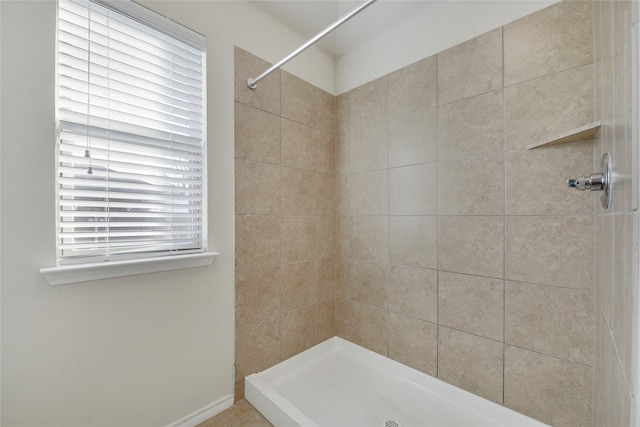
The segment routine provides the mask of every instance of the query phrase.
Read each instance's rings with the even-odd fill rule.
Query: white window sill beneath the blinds
[[[88,282],[90,280],[132,276],[134,274],[203,267],[213,264],[214,259],[218,255],[220,255],[218,252],[205,252],[201,254],[176,255],[142,260],[135,259],[95,264],[63,265],[41,268],[40,274],[47,279],[50,285],[66,285],[69,283]]]

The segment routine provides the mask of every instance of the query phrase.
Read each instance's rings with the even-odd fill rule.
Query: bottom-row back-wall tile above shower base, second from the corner
[[[389,314],[386,310],[352,302],[351,341],[383,356],[389,355]]]

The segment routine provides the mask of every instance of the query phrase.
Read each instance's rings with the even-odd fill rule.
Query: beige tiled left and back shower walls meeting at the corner
[[[558,426],[591,423],[590,2],[337,97],[236,49],[236,395],[333,335]],[[568,260],[571,260],[570,262]]]

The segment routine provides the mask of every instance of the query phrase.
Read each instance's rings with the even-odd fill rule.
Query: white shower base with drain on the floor
[[[546,426],[338,337],[249,375],[245,397],[276,427]]]

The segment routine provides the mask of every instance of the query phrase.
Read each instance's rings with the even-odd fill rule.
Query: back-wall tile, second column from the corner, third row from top
[[[351,175],[351,215],[389,214],[389,172],[385,170]]]

